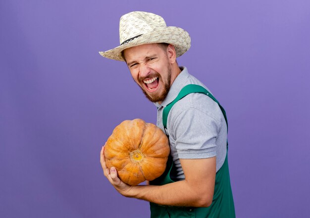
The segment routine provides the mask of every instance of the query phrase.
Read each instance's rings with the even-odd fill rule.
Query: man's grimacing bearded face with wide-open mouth
[[[146,44],[126,49],[124,57],[135,82],[151,102],[162,102],[171,86],[171,64],[164,46]]]

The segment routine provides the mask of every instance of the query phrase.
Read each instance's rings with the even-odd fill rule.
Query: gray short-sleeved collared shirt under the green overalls
[[[184,86],[197,84],[207,89],[204,84],[188,73],[186,67],[180,67],[180,69],[182,72],[174,80],[167,97],[161,104],[155,103],[157,126],[163,131],[162,110],[177,97]],[[207,95],[192,93],[175,103],[168,114],[165,131],[169,137],[170,155],[176,167],[172,179],[185,178],[179,159],[203,159],[216,156],[216,171],[224,163],[227,152],[226,121],[218,104]]]

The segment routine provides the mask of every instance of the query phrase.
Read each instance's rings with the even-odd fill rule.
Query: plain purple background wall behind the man
[[[308,217],[309,0],[1,0],[0,217],[149,217],[99,163],[117,124],[156,119],[125,64],[98,54],[133,10],[190,33],[178,62],[226,109],[237,217]]]

